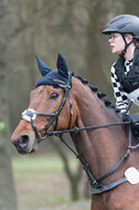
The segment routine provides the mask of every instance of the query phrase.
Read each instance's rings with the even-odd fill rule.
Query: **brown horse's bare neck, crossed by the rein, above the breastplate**
[[[88,87],[82,85],[76,87],[76,91],[78,115],[75,126],[105,125],[119,120]],[[126,151],[122,151],[122,148],[127,148],[121,126],[79,132],[74,144],[96,177],[114,167]]]

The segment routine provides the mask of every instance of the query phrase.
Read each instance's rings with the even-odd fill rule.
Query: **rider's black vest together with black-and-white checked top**
[[[139,106],[139,49],[135,50],[133,60],[119,57],[111,66],[111,84],[116,98],[116,106],[120,113],[128,107],[128,99]]]

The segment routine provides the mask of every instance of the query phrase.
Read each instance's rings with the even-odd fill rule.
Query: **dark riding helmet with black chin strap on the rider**
[[[127,48],[132,43],[131,41],[129,44],[127,44],[125,39],[126,33],[133,35],[133,42],[139,42],[139,18],[131,14],[121,14],[114,18],[103,31],[103,33],[109,35],[113,32],[118,32],[122,35],[126,46],[124,53],[121,54],[125,54]]]

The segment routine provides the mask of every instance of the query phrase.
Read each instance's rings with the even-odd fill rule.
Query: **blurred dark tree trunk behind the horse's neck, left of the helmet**
[[[100,49],[100,24],[101,17],[106,15],[104,6],[106,2],[100,0],[88,0],[86,9],[88,13],[88,21],[86,24],[86,70],[92,83],[97,84],[100,90],[104,90],[107,81],[105,72],[103,71],[101,49]],[[99,15],[101,14],[101,15]]]

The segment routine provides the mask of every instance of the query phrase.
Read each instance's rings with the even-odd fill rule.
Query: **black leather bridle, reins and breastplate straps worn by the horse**
[[[60,108],[55,112],[55,113],[41,113],[41,112],[35,112],[33,109],[26,109],[22,113],[22,118],[24,118],[25,120],[30,122],[31,125],[32,125],[32,128],[35,133],[35,137],[38,139],[38,141],[40,141],[40,139],[42,140],[43,138],[45,138],[46,136],[57,136],[60,137],[60,139],[62,140],[62,143],[64,143],[66,145],[66,147],[68,149],[71,149],[71,151],[76,156],[76,158],[79,159],[84,170],[86,171],[87,176],[88,176],[88,181],[89,181],[89,188],[90,188],[90,192],[92,193],[101,193],[101,192],[105,192],[105,191],[108,191],[108,190],[111,190],[113,188],[124,183],[127,181],[127,178],[122,178],[122,179],[119,179],[113,183],[109,183],[107,186],[104,186],[101,185],[100,182],[106,179],[107,177],[109,177],[110,175],[113,175],[122,164],[124,161],[128,158],[130,151],[132,149],[136,149],[139,147],[139,144],[137,144],[136,146],[132,146],[131,145],[131,128],[130,128],[130,122],[119,122],[119,123],[111,123],[111,124],[106,124],[106,125],[99,125],[99,126],[88,126],[88,127],[83,127],[83,128],[77,128],[77,127],[74,127],[74,128],[71,128],[71,123],[72,123],[72,115],[73,115],[73,104],[72,104],[72,98],[71,98],[71,94],[70,94],[70,91],[71,91],[71,83],[72,81],[72,73],[70,73],[70,76],[68,76],[68,83],[67,85],[65,85],[63,88],[65,91],[64,93],[64,96],[63,96],[63,99],[62,99],[62,103],[60,105]],[[66,103],[66,97],[68,95],[68,98],[70,98],[70,123],[68,123],[68,128],[65,129],[63,128],[62,130],[56,130],[56,127],[57,127],[57,123],[58,123],[58,117],[60,117],[60,114]],[[49,124],[45,126],[45,127],[42,127],[42,128],[38,128],[35,126],[35,123],[34,123],[34,118],[36,115],[41,115],[41,116],[50,116],[52,117],[52,119],[49,122]],[[55,126],[54,126],[54,130],[53,132],[49,132],[47,129],[50,128],[50,126],[54,123],[55,123]],[[103,175],[101,177],[95,179],[89,170],[89,166],[88,164],[84,160],[84,158],[82,157],[82,155],[77,151],[76,151],[64,140],[63,138],[63,134],[65,133],[72,133],[73,134],[73,138],[75,139],[75,135],[78,133],[78,132],[82,132],[82,130],[89,130],[89,129],[99,129],[99,128],[106,128],[106,127],[110,127],[110,126],[119,126],[119,125],[128,125],[129,127],[129,144],[128,144],[128,147],[127,147],[127,151],[126,154],[124,155],[124,157],[119,160],[119,162],[114,166],[108,172],[106,172],[105,175]],[[46,132],[46,135],[44,137],[41,136],[41,133],[40,130],[45,130]],[[95,187],[94,187],[95,186]]]

